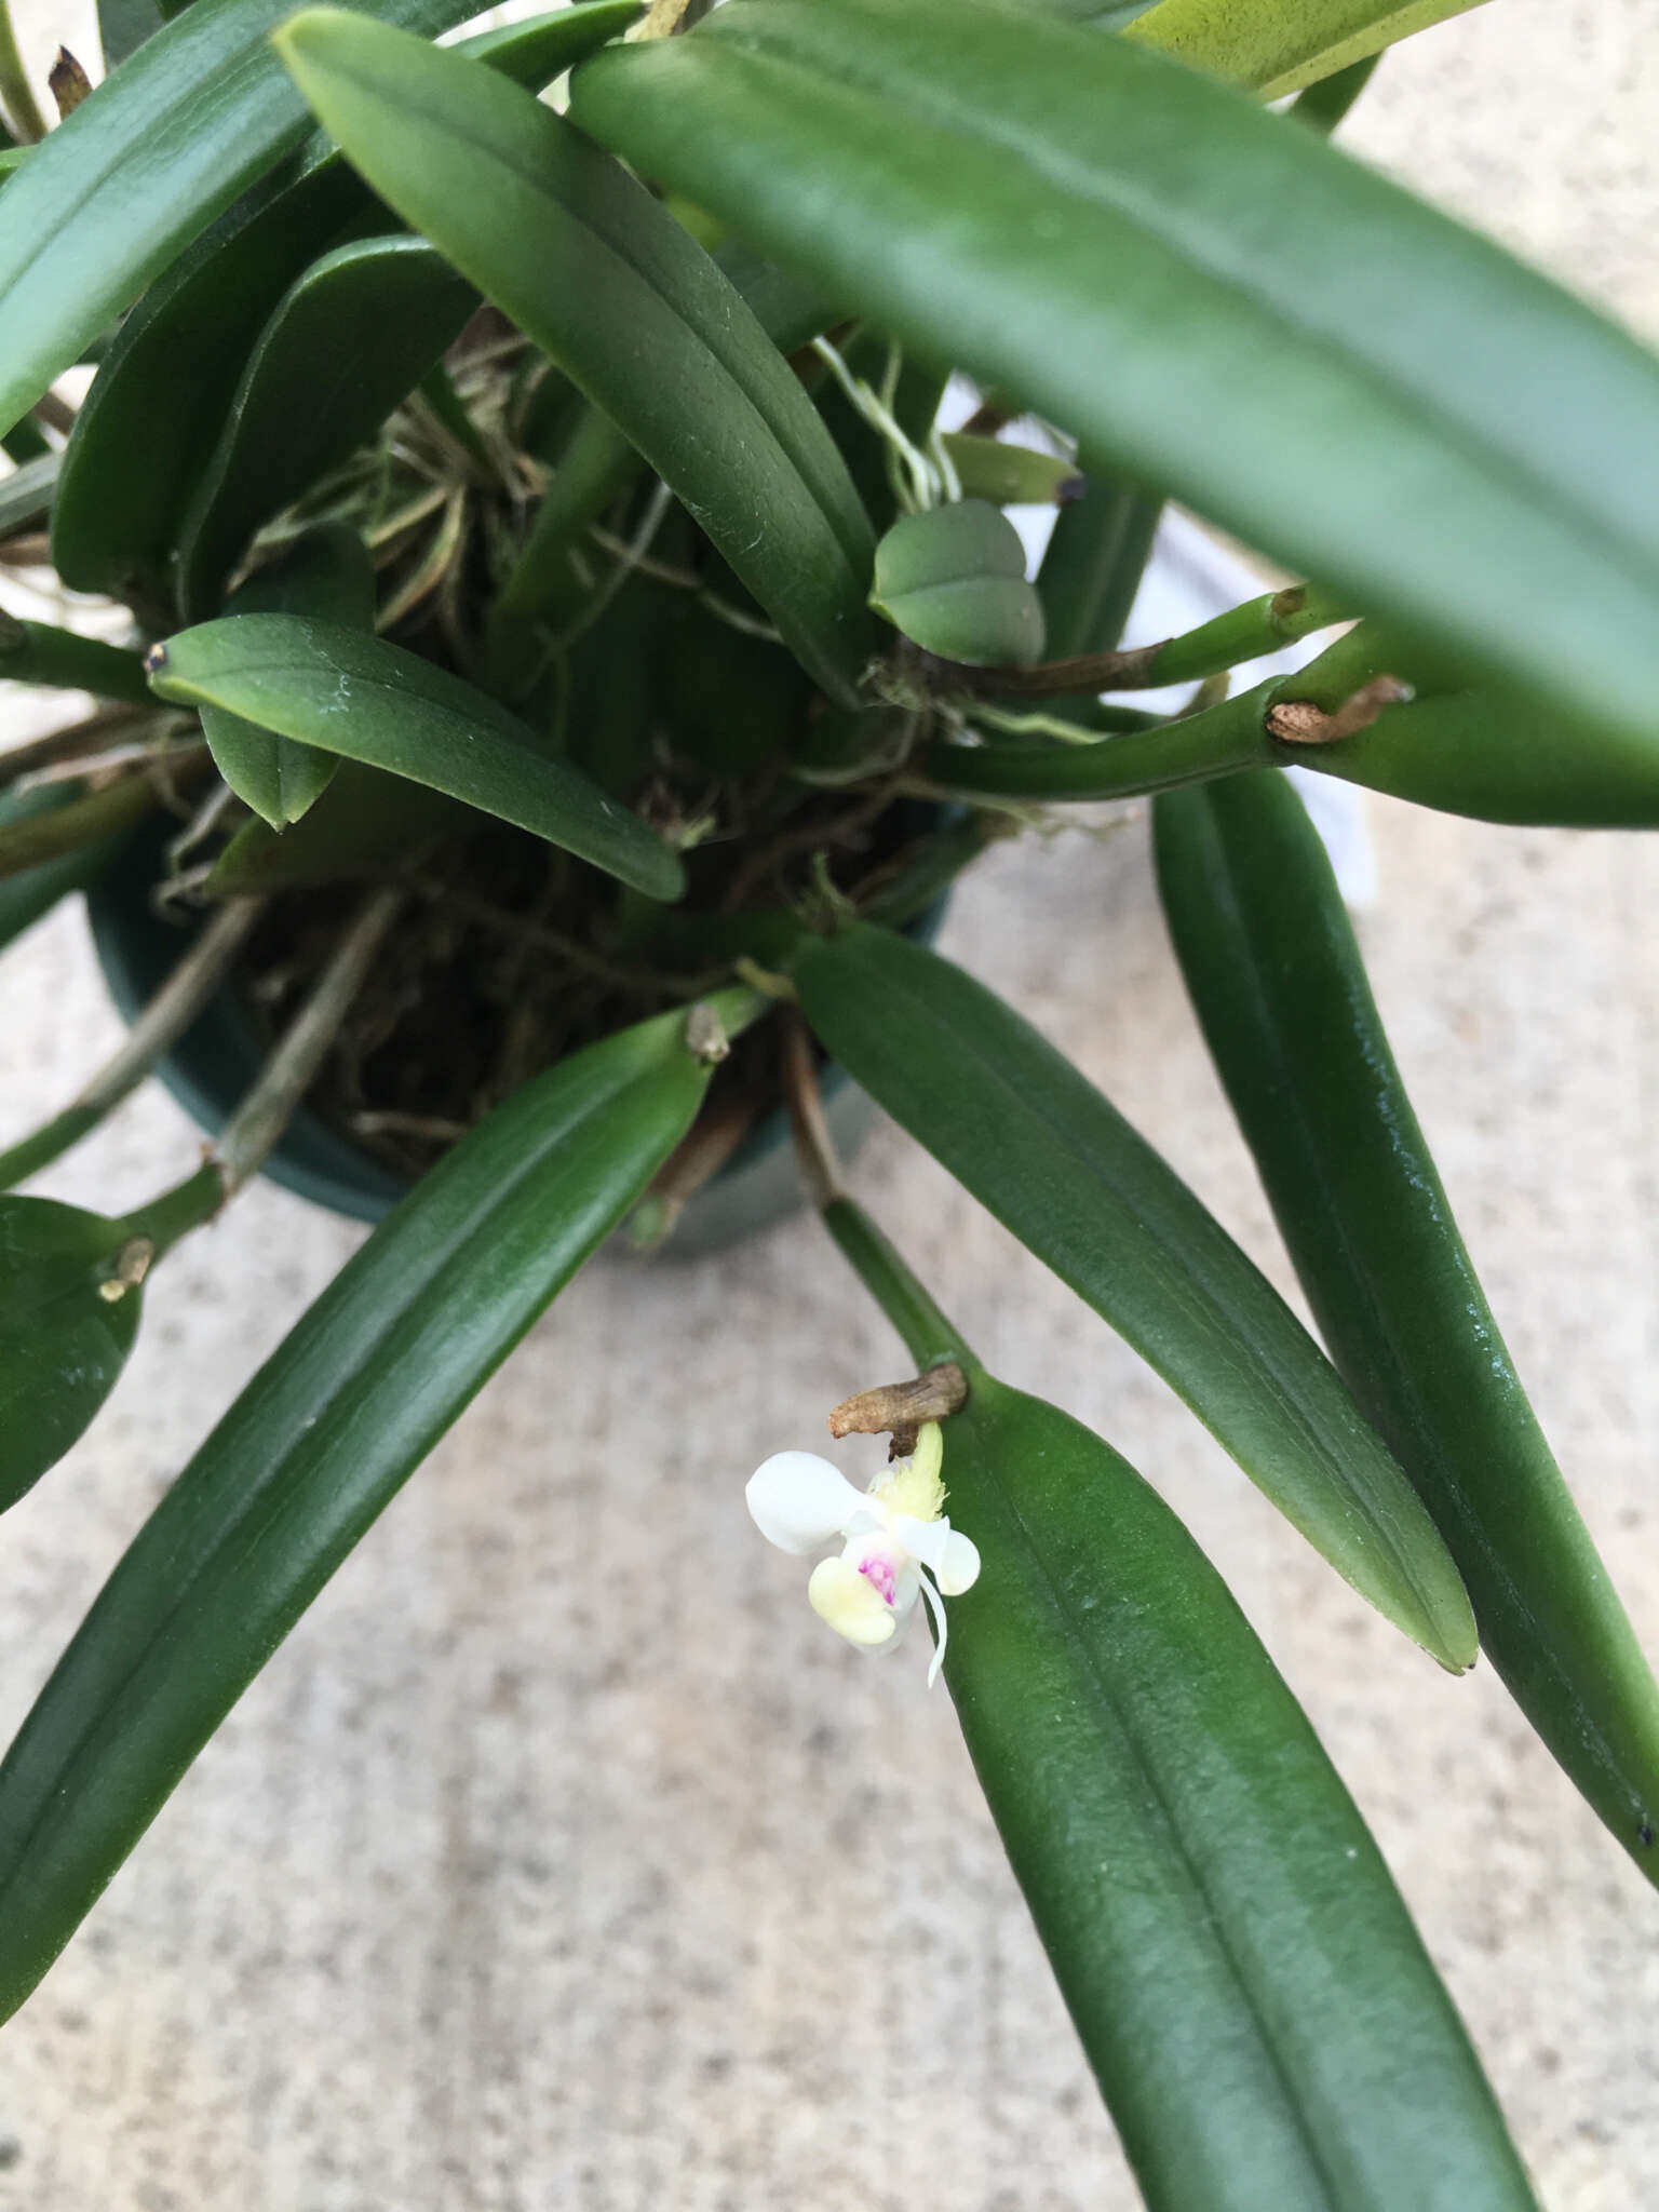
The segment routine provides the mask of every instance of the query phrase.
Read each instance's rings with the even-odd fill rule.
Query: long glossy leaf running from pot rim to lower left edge
[[[622,1221],[706,1077],[684,1015],[661,1015],[526,1084],[230,1407],[0,1765],[0,2017],[341,1559]]]

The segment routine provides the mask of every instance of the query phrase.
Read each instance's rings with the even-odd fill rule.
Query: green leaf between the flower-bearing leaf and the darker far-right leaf
[[[880,929],[814,940],[801,1006],[854,1082],[1086,1298],[1356,1590],[1442,1666],[1458,1571],[1267,1279],[1108,1099],[949,960]]]

